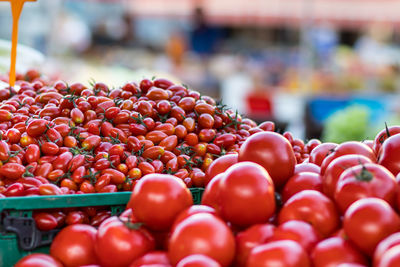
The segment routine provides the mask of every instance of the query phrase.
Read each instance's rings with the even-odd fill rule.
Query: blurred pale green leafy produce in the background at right
[[[373,140],[378,132],[388,126],[400,125],[396,114],[384,121],[370,124],[370,110],[366,106],[352,105],[332,114],[324,124],[322,140],[324,142],[342,143],[345,141]]]

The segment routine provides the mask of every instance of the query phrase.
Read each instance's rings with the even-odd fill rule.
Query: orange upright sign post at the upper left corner
[[[18,22],[22,8],[25,2],[36,2],[36,0],[0,0],[2,2],[10,2],[11,13],[13,17],[13,29],[11,35],[11,63],[9,84],[11,87],[15,85],[15,65],[17,61],[17,44],[18,44]]]

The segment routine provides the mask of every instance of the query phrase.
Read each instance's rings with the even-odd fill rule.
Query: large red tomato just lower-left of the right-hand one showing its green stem
[[[335,204],[315,190],[303,190],[293,195],[283,205],[278,215],[279,224],[290,220],[308,222],[327,237],[339,227],[339,215]]]

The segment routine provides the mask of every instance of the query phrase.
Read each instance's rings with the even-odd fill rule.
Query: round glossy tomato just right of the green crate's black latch
[[[67,226],[54,238],[50,255],[67,267],[97,264],[94,250],[96,234],[96,228],[90,225]]]

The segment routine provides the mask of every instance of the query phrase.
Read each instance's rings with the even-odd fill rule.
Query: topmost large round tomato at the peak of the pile
[[[252,161],[263,166],[276,188],[282,187],[293,175],[296,165],[289,141],[274,132],[260,132],[250,136],[240,148],[239,161]]]

